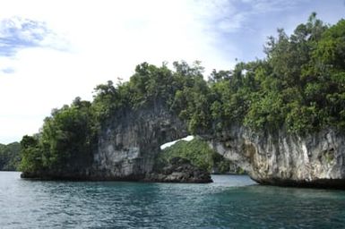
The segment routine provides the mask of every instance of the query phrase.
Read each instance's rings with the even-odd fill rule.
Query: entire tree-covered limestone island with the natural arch
[[[312,13],[264,52],[208,81],[199,62],[143,63],[130,81],[97,86],[92,102],[75,98],[22,138],[22,177],[156,181],[160,145],[193,134],[256,182],[345,188],[345,20]]]

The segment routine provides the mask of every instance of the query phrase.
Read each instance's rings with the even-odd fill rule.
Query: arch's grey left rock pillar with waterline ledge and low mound
[[[47,180],[211,182],[209,173],[184,160],[177,159],[163,170],[153,171],[160,146],[186,135],[185,123],[160,103],[123,109],[103,123],[91,156],[71,158],[64,169],[24,172],[21,176]]]

